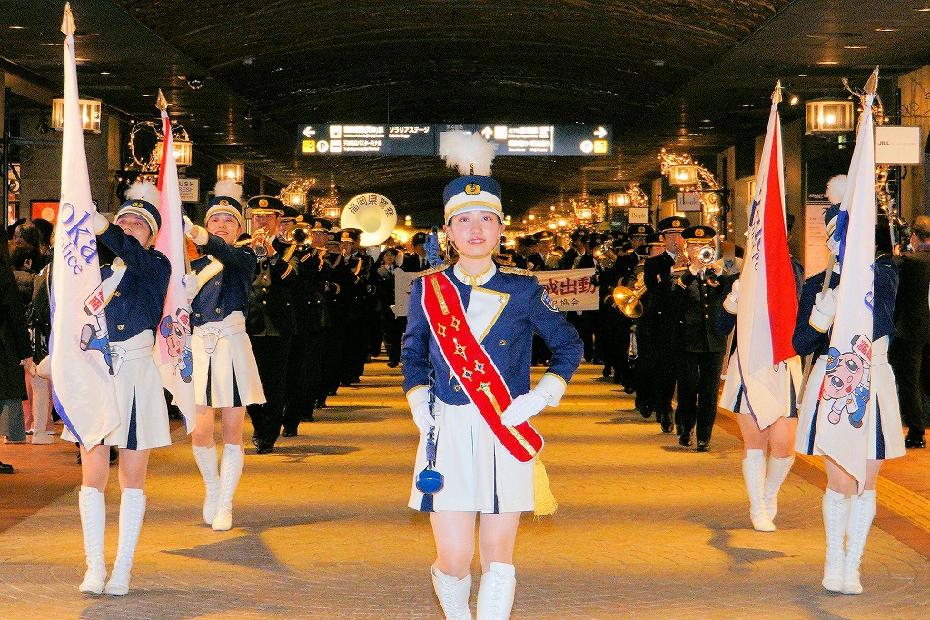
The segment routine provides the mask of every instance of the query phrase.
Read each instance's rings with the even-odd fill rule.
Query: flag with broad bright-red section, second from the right
[[[760,428],[793,406],[800,359],[791,345],[798,300],[785,232],[785,174],[778,102],[772,112],[752,198],[749,238],[739,276],[737,354],[746,402]],[[785,363],[782,363],[785,362]]]

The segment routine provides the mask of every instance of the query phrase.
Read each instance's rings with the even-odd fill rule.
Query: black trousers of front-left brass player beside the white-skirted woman
[[[249,405],[248,417],[255,426],[259,443],[272,446],[281,435],[285,414],[285,388],[287,383],[287,360],[290,354],[290,336],[249,336],[255,362],[259,367],[261,387],[265,391],[265,403]]]

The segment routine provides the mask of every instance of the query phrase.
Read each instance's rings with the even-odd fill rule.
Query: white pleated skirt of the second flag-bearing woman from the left
[[[216,347],[207,353],[206,341],[217,333]],[[265,402],[252,343],[246,333],[246,316],[233,312],[221,321],[193,328],[193,389],[198,405],[246,407]],[[284,371],[284,369],[282,369]]]

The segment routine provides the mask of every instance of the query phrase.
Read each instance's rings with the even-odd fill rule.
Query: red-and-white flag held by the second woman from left
[[[174,136],[167,104],[158,91],[162,111],[161,163],[158,168],[158,190],[161,201],[158,214],[162,225],[155,237],[155,249],[165,254],[171,263],[171,279],[165,298],[165,310],[155,335],[153,357],[162,377],[162,384],[171,393],[174,404],[184,416],[187,432],[193,431],[196,404],[193,396],[193,357],[191,355],[191,303],[187,299],[184,277],[187,274],[187,246],[184,242],[184,211],[180,201],[178,165],[174,158]]]

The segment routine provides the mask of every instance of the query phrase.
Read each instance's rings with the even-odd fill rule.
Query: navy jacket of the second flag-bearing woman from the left
[[[248,246],[231,246],[210,235],[205,256],[191,261],[197,276],[197,296],[191,302],[191,327],[221,321],[233,312],[246,312],[258,258]]]

